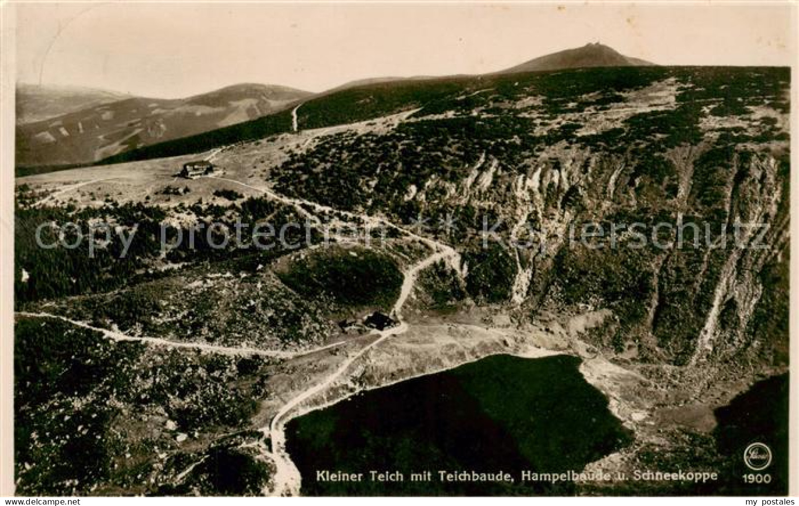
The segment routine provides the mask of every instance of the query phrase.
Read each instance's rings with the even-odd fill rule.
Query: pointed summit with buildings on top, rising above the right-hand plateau
[[[510,69],[498,73],[533,72],[539,70],[580,69],[585,67],[638,67],[650,66],[654,63],[639,58],[624,56],[615,49],[603,44],[586,44],[574,49],[565,49],[557,53],[537,57],[525,61]]]

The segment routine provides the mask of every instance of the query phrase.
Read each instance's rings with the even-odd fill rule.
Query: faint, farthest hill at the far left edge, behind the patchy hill
[[[17,124],[48,120],[88,107],[124,100],[128,95],[80,86],[17,85]]]

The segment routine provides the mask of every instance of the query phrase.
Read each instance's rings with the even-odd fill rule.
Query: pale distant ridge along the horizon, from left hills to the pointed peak
[[[414,87],[426,82],[479,80],[534,71],[652,65],[626,57],[609,46],[593,43],[537,57],[499,72],[471,76],[372,77],[349,81],[322,93],[282,85],[240,83],[182,99],[131,96],[18,125],[17,165],[30,168],[94,164],[154,144],[242,125],[303,104],[310,98],[332,97],[352,90],[384,88],[383,92],[375,93],[390,94],[392,87]],[[341,111],[329,113],[334,117],[341,115]],[[86,125],[92,132],[85,132]]]

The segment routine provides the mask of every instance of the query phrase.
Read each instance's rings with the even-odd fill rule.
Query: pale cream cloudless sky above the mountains
[[[487,73],[602,42],[661,65],[792,65],[787,4],[16,4],[17,81],[177,98]]]

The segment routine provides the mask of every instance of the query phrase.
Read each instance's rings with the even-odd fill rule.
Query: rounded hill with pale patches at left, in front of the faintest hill
[[[241,84],[177,100],[129,97],[17,126],[17,165],[89,164],[165,140],[263,117],[311,93]],[[19,105],[18,105],[19,107]]]

